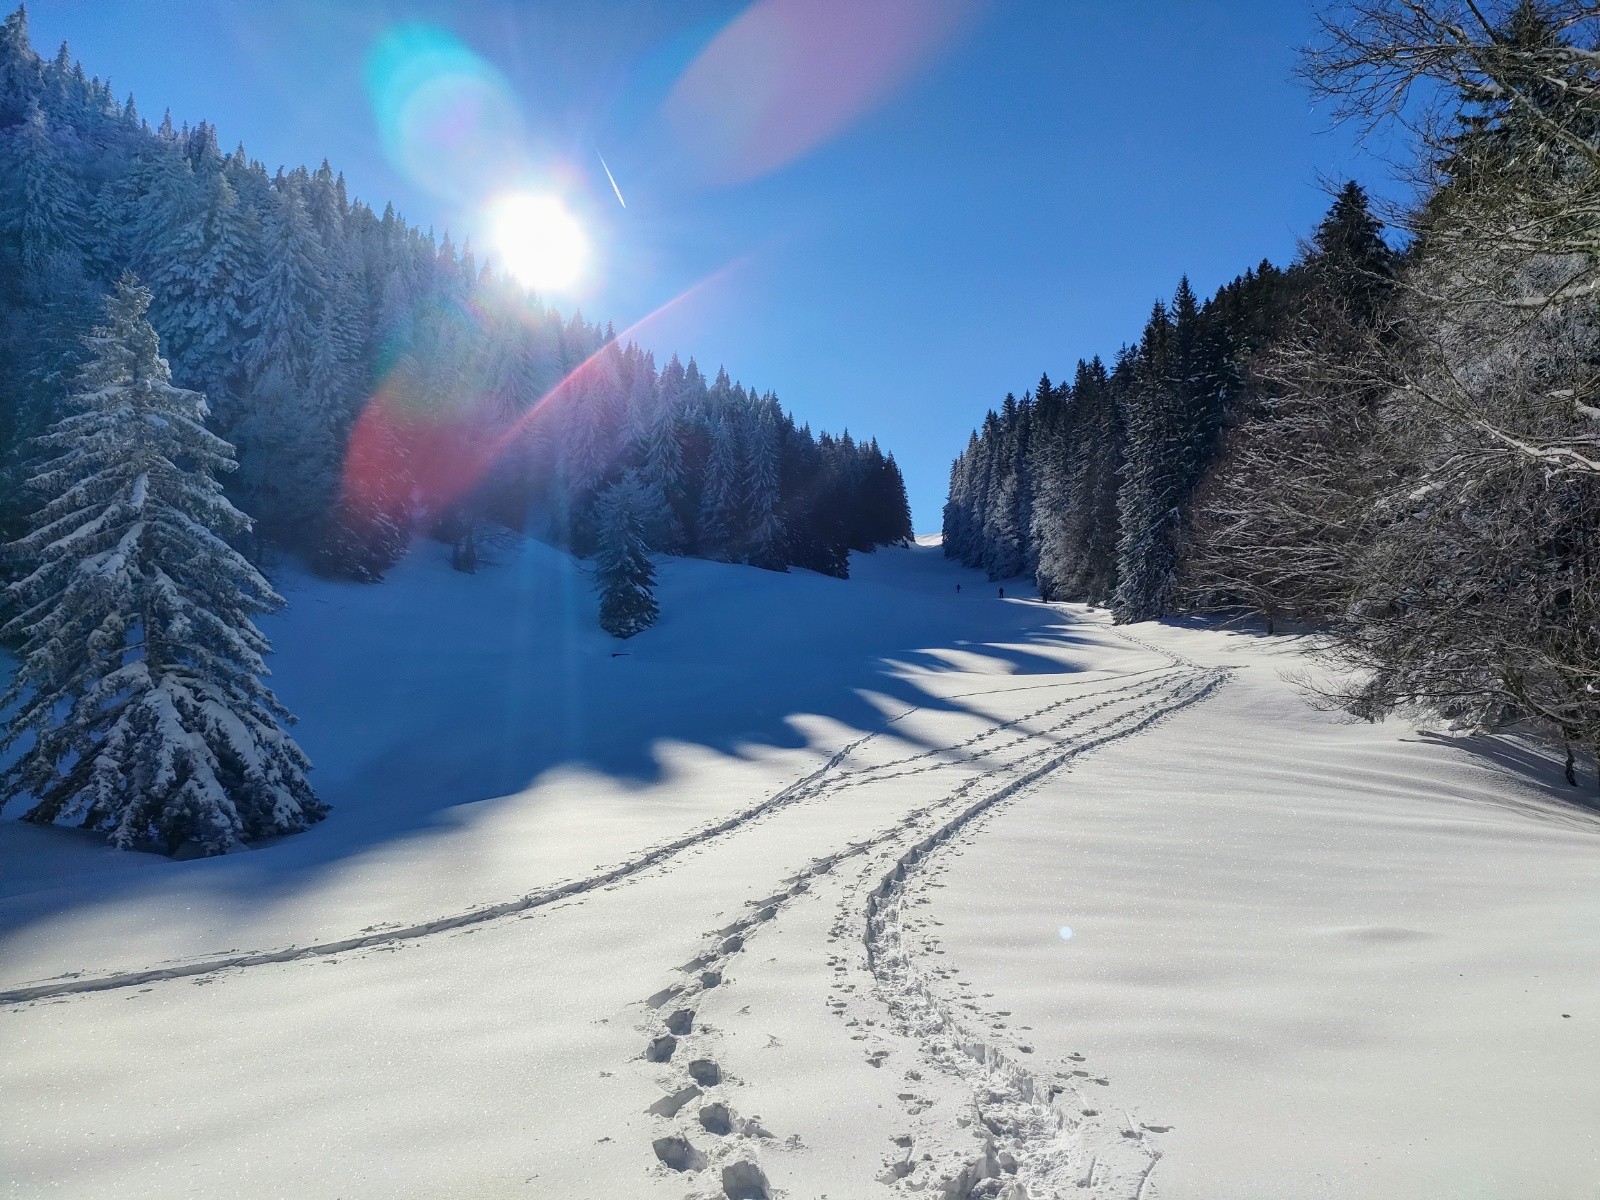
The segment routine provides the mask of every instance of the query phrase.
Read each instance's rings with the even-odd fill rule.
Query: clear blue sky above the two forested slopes
[[[960,0],[890,3],[920,29]],[[34,0],[29,16],[42,53],[67,40],[152,120],[210,120],[269,166],[326,157],[355,195],[493,254],[480,198],[387,155],[368,96],[386,34],[458,38],[595,242],[581,288],[554,302],[622,330],[688,291],[638,339],[726,365],[814,427],[875,435],[906,472],[918,531],[938,528],[950,458],[1006,390],[1112,355],[1181,274],[1205,294],[1262,258],[1286,262],[1326,206],[1325,178],[1394,190],[1389,166],[1291,78],[1309,0],[973,0],[805,152],[706,171],[662,114],[746,8]],[[882,30],[858,40],[864,70],[890,53]],[[782,141],[750,117],[774,67],[818,96],[838,90],[803,61],[816,46],[770,51],[734,64],[736,86],[701,78],[691,106],[755,122],[746,154]]]

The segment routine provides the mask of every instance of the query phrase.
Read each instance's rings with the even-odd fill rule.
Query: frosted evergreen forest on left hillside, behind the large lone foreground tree
[[[234,445],[245,549],[376,579],[414,531],[475,562],[496,522],[595,549],[624,478],[648,547],[845,574],[851,549],[910,536],[875,442],[814,435],[776,397],[693,360],[658,368],[350,200],[325,162],[269,173],[210,125],[157,128],[0,27],[0,536],[35,498],[32,438],[61,416],[83,334],[131,270],[179,387]]]

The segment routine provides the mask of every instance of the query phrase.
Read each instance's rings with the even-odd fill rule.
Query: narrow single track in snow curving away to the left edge
[[[1150,674],[1150,670],[1126,672],[1126,675],[1104,677],[1102,680],[1098,682],[1117,682],[1122,678],[1133,678],[1147,674]],[[1032,686],[1038,688],[1070,686],[1070,680],[1050,685],[1032,685]],[[1106,694],[1115,691],[1118,691],[1118,688],[1114,686],[1107,690]],[[970,696],[1003,694],[1003,691],[968,693],[968,694]],[[1032,720],[1045,712],[1058,709],[1061,707],[1061,704],[1070,702],[1072,699],[1082,698],[1083,694],[1085,693],[1077,693],[1077,696],[1069,696],[1066,701],[1058,701],[1054,704],[1043,706],[1042,709],[1024,714],[1022,717],[1018,717],[1011,722],[1000,722],[998,725],[994,725],[984,733],[981,733],[978,739],[994,736],[1008,728],[1019,726],[1022,722]],[[1099,694],[1099,693],[1091,693],[1091,694]],[[960,696],[950,696],[946,699],[960,699]],[[621,883],[634,875],[650,870],[651,867],[661,866],[677,858],[686,850],[693,850],[707,842],[712,842],[714,838],[733,834],[742,829],[744,826],[749,826],[750,822],[758,821],[763,816],[768,816],[770,813],[774,813],[792,803],[816,797],[819,794],[819,786],[824,784],[827,778],[853,754],[859,752],[867,742],[882,738],[885,733],[888,733],[890,726],[922,710],[923,707],[917,706],[906,709],[904,712],[894,717],[890,717],[885,722],[883,730],[875,730],[861,738],[856,738],[842,749],[835,750],[821,766],[818,766],[811,773],[802,776],[792,784],[787,784],[786,787],[779,789],[765,800],[760,800],[755,805],[750,805],[749,808],[734,813],[733,816],[702,826],[696,830],[691,830],[690,834],[685,834],[680,838],[653,846],[646,850],[643,854],[638,854],[637,858],[627,859],[626,862],[621,862],[614,867],[597,872],[594,875],[587,875],[579,880],[558,882],[549,888],[526,893],[523,896],[517,896],[509,901],[486,904],[475,909],[467,909],[464,912],[448,914],[445,917],[435,917],[426,922],[418,922],[414,925],[402,925],[390,928],[373,926],[362,930],[360,933],[352,934],[349,938],[341,938],[336,941],[307,942],[304,946],[283,946],[262,950],[237,950],[227,954],[205,955],[202,958],[192,958],[192,960],[158,963],[154,966],[139,968],[133,971],[107,971],[104,974],[85,974],[85,973],[62,974],[53,979],[42,979],[38,982],[29,982],[18,987],[0,990],[0,1008],[26,1005],[38,1000],[62,1000],[75,995],[88,995],[93,992],[110,992],[123,987],[146,987],[157,982],[168,982],[174,979],[192,979],[198,976],[219,974],[222,971],[238,971],[253,966],[267,966],[272,963],[293,963],[307,958],[326,958],[331,955],[349,954],[355,950],[370,950],[381,946],[394,946],[397,942],[410,942],[442,933],[453,933],[456,930],[462,930],[472,925],[482,925],[485,922],[501,920],[504,917],[514,917],[518,914],[525,914],[531,909],[541,909],[549,904],[555,904],[557,901],[581,898],[587,893],[606,888],[613,883]],[[926,760],[952,752],[958,754],[963,746],[978,739],[970,739],[968,742],[963,742],[955,747],[941,747],[926,750],[923,754],[902,758],[898,762],[898,765],[909,765],[918,760]],[[869,771],[859,771],[856,774],[867,776]],[[861,782],[872,782],[872,779],[862,778]]]

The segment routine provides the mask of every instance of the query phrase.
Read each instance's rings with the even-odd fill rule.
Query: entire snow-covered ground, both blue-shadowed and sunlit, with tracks
[[[10,1194],[1592,1200],[1547,763],[1342,725],[1282,638],[856,576],[670,563],[624,658],[542,547],[291,581],[328,822],[0,824]]]

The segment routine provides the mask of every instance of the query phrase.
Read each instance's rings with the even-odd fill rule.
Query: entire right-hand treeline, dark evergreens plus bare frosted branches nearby
[[[1008,398],[952,470],[947,554],[1120,621],[1312,627],[1363,717],[1594,749],[1597,51],[1581,0],[1336,10],[1304,74],[1414,139],[1403,251],[1349,184],[1293,266],[1182,285],[1109,371]]]

